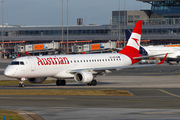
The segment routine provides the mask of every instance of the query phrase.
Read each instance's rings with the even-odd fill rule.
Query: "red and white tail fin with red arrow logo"
[[[139,46],[141,41],[141,30],[142,30],[142,20],[137,21],[134,30],[128,40],[125,48],[123,48],[119,53],[122,54],[139,54]]]

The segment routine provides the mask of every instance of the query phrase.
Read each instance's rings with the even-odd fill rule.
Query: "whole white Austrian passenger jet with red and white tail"
[[[141,29],[142,21],[138,21],[127,46],[119,53],[20,57],[7,66],[4,74],[20,80],[20,87],[24,86],[23,82],[26,79],[31,83],[42,83],[47,77],[57,78],[57,86],[65,86],[67,78],[74,78],[76,82],[95,86],[97,81],[94,78],[97,75],[122,68],[153,66],[131,66],[144,58],[139,54]],[[165,57],[158,64],[163,63]]]

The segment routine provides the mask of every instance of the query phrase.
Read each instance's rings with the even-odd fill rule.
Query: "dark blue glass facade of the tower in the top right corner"
[[[180,1],[152,1],[151,11],[167,18],[180,17]]]

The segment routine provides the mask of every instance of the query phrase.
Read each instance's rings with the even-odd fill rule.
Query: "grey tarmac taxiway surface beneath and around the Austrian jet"
[[[0,78],[9,63],[0,61]],[[69,82],[55,84],[4,86],[3,89],[122,89],[134,96],[0,96],[0,108],[35,113],[45,120],[119,120],[180,119],[180,65],[124,69],[97,77],[95,87]],[[52,79],[52,78],[48,78]]]

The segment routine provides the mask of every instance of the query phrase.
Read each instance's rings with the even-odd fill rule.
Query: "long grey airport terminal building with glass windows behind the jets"
[[[68,27],[68,46],[116,41],[116,47],[123,47],[124,29],[132,29],[137,20],[143,20],[143,45],[180,43],[180,1],[179,0],[137,0],[151,4],[151,10],[112,11],[109,25],[74,25]],[[120,16],[119,16],[120,15]],[[120,33],[120,34],[119,34]],[[16,44],[50,43],[52,41],[67,46],[67,26],[21,26],[4,25],[6,51]],[[2,43],[2,42],[1,42]]]

